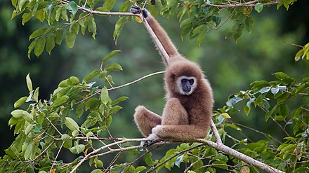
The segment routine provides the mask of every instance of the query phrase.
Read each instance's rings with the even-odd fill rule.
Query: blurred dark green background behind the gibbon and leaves
[[[299,48],[289,43],[304,45],[309,41],[309,1],[297,1],[289,11],[282,6],[264,8],[261,14],[252,12],[254,29],[246,32],[237,43],[224,39],[233,22],[226,23],[216,31],[206,34],[202,46],[196,40],[180,39],[179,22],[176,17],[167,20],[158,17],[176,47],[186,57],[199,63],[213,87],[215,110],[225,105],[228,96],[239,90],[247,90],[252,81],[271,81],[272,74],[283,71],[300,80],[309,76],[309,62],[294,62]],[[0,155],[4,155],[13,141],[13,130],[8,127],[13,103],[27,96],[25,76],[30,73],[34,88],[40,87],[41,99],[49,99],[60,81],[70,76],[84,78],[94,69],[100,68],[102,58],[114,49],[122,50],[110,61],[119,62],[124,71],[114,72],[116,85],[133,81],[155,71],[164,70],[161,58],[154,48],[143,25],[128,22],[121,32],[117,46],[112,32],[118,17],[96,16],[98,34],[96,40],[91,34],[77,36],[74,48],[67,48],[65,41],[56,46],[51,55],[44,52],[39,58],[27,58],[29,35],[39,28],[39,21],[32,19],[22,26],[20,17],[11,20],[11,1],[0,0]],[[96,79],[97,80],[97,79]],[[99,81],[98,83],[103,82]],[[124,107],[114,116],[110,132],[114,137],[141,137],[133,123],[134,108],[143,104],[156,113],[162,113],[164,90],[162,75],[147,78],[126,88],[110,92],[112,99],[126,95],[129,99],[121,103]],[[232,120],[249,127],[276,135],[272,123],[265,123],[258,111],[248,117],[236,113]],[[248,132],[247,137],[256,141],[256,134]]]

